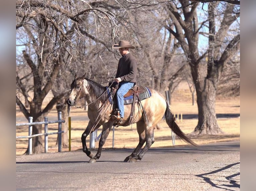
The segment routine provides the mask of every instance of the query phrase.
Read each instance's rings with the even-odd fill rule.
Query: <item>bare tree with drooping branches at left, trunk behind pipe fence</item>
[[[108,23],[111,28],[107,30],[110,29],[109,33],[115,35],[113,15],[98,8],[101,5],[104,3],[16,1],[16,42],[25,49],[16,53],[20,61],[16,70],[16,103],[26,118],[32,116],[34,121],[41,121],[57,102],[58,110],[61,109],[63,96],[67,93],[66,87],[62,85],[70,84],[71,81],[66,77],[72,76],[70,74],[74,74],[75,70],[81,71],[81,66],[83,69],[88,66],[84,63],[86,57],[83,57],[86,52],[91,55],[89,49],[85,48],[87,45],[96,42],[109,49],[110,46],[100,38],[90,34],[104,29]],[[97,24],[90,31],[94,18],[94,24]],[[18,69],[25,65],[29,70],[21,76]],[[66,76],[61,76],[61,73]],[[30,86],[26,84],[28,81],[32,81]],[[43,108],[43,100],[51,90],[54,97]],[[29,109],[25,107],[25,102],[28,102]],[[32,133],[40,132],[41,125],[34,125]],[[33,153],[42,151],[42,141],[41,136],[33,138]]]

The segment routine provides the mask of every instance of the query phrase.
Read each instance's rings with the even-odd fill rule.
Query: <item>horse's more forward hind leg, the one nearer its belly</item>
[[[137,132],[139,134],[139,144],[134,149],[131,155],[127,156],[124,159],[124,162],[136,162],[136,159],[134,161],[134,157],[137,156],[138,152],[140,151],[143,144],[146,142],[146,136],[145,136],[145,124],[144,121],[137,122]]]

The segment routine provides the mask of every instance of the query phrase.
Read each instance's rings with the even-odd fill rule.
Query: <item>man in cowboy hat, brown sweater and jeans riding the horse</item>
[[[137,62],[129,49],[135,49],[128,41],[121,40],[119,44],[112,45],[113,49],[119,49],[122,58],[118,62],[115,82],[119,83],[117,90],[117,106],[119,109],[120,119],[118,115],[112,115],[113,119],[117,119],[117,124],[123,123],[124,117],[124,95],[134,86],[137,76]]]

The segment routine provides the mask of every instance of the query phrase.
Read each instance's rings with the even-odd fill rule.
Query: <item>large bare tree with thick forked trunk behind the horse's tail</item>
[[[170,29],[169,31],[178,40],[186,54],[196,87],[199,121],[194,133],[222,133],[215,112],[216,91],[224,65],[239,49],[239,31],[233,30],[233,38],[231,35],[231,25],[237,22],[240,15],[237,12],[239,7],[233,4],[211,2],[208,4],[208,20],[203,21],[200,25],[197,15],[198,3],[194,3],[192,6],[187,6],[189,4],[187,0],[179,1],[179,3],[170,2],[166,8],[169,18],[175,25],[175,30]],[[218,13],[220,22],[216,19],[217,10],[220,11]],[[207,23],[208,25],[206,25]],[[217,24],[219,24],[218,31],[216,31]],[[203,27],[209,28],[209,32],[206,34],[209,36],[209,48],[200,55],[198,43],[200,30]],[[207,70],[200,65],[205,55],[208,55],[209,58]]]

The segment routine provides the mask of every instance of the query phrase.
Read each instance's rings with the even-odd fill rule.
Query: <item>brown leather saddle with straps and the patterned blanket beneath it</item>
[[[112,89],[113,90],[113,89]],[[117,91],[117,89],[114,89],[113,91]],[[115,92],[114,92],[115,93]],[[134,108],[135,108],[135,103],[146,99],[151,96],[151,92],[148,88],[144,86],[138,86],[135,84],[125,95],[124,95],[124,105],[127,104],[132,104],[131,107],[131,113],[128,118],[128,120],[123,124],[123,126],[128,126],[132,124],[132,119],[134,115]],[[117,105],[116,103],[116,96],[111,98],[110,103],[113,105]],[[118,109],[113,109],[114,115],[117,116],[117,118],[120,118],[119,111]]]

